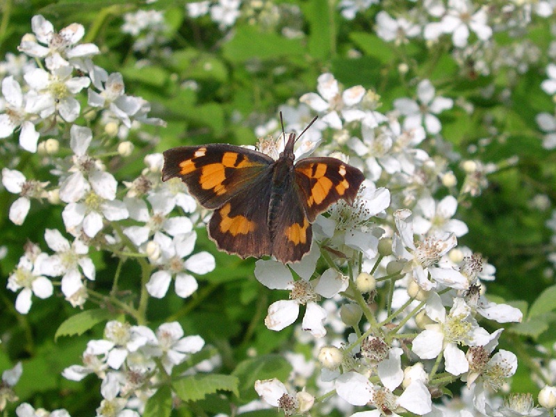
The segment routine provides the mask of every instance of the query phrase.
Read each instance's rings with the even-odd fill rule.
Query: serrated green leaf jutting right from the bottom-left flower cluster
[[[198,401],[216,391],[229,391],[236,396],[239,380],[232,375],[190,375],[174,382],[174,391],[183,401]]]

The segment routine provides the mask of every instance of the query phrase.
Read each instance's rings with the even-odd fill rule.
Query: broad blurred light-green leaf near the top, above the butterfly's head
[[[238,27],[234,38],[224,44],[223,51],[228,60],[235,62],[304,54],[300,40],[287,39],[275,33],[261,33],[252,26]]]

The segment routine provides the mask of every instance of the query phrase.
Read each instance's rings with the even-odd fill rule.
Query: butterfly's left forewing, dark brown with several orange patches
[[[179,177],[206,208],[219,208],[270,172],[270,156],[233,145],[184,146],[164,152],[163,181]]]

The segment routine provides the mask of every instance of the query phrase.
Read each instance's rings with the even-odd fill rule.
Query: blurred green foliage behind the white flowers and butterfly
[[[337,12],[334,1],[277,3],[300,6],[305,38],[287,39],[273,28],[251,25],[245,19],[236,23],[233,35],[223,37],[209,17],[187,17],[185,3],[181,1],[145,4],[106,0],[8,0],[2,5],[0,56],[17,51],[22,35],[31,31],[31,17],[35,14],[44,15],[58,30],[72,22],[85,26],[83,42],[94,42],[101,47],[95,63],[108,72],[121,72],[126,92],[150,101],[151,114],[167,121],[164,129],[146,128],[158,136],[156,145],[143,142],[136,149],[133,161],[128,159],[124,163],[117,157],[111,161],[109,171],[119,180],[136,177],[145,154],[170,147],[208,142],[254,144],[254,126],[276,117],[279,105],[295,102],[305,92],[314,91],[322,72],[332,72],[346,88],[361,84],[375,90],[381,96],[383,106],[379,111],[382,113],[393,108],[395,98],[411,97],[415,80],[424,78],[432,81],[440,95],[470,102],[475,106],[471,115],[459,106],[443,113],[445,140],[464,159],[501,163],[518,155],[519,160],[516,165],[508,165],[489,177],[489,187],[482,195],[462,202],[459,218],[468,224],[470,231],[459,243],[481,252],[496,266],[496,281],[488,284],[493,299],[514,300],[515,305],[527,311],[528,305],[548,288],[548,293],[535,304],[536,309],[500,345],[520,359],[514,391],[536,391],[530,379],[533,364],[528,358],[534,344],[551,347],[556,339],[553,326],[556,297],[551,296],[553,276],[547,273],[550,264],[546,259],[546,254],[554,248],[548,245],[550,231],[544,226],[550,210],[539,211],[530,204],[538,194],[547,195],[552,207],[556,202],[556,154],[541,147],[541,133],[534,121],[537,113],[554,110],[551,97],[539,87],[546,79],[548,57],[541,56],[524,74],[502,69],[480,76],[457,65],[447,43],[431,46],[413,40],[398,47],[379,39],[374,33],[378,8],[370,8],[347,21]],[[414,3],[384,1],[382,7],[402,10],[410,4]],[[137,8],[165,10],[169,27],[164,49],[149,50],[150,59],[143,66],[140,60],[145,57],[131,50],[133,40],[120,30],[122,15]],[[553,40],[550,34],[553,23],[550,19],[538,19],[522,38],[495,34],[494,39],[499,45],[507,46],[528,39],[546,51]],[[360,54],[351,58],[352,50]],[[400,73],[400,64],[407,65],[408,72]],[[181,83],[191,80],[199,87],[196,91],[180,88]],[[493,85],[495,92],[492,98],[485,99],[481,90],[488,85]],[[505,90],[511,94],[499,99]],[[434,147],[434,144],[427,142],[425,146]],[[470,153],[472,147],[477,152]],[[461,169],[457,164],[454,169],[461,181]],[[4,283],[15,268],[26,240],[44,246],[44,228],[63,229],[60,208],[45,211],[35,205],[26,222],[21,227],[15,226],[7,217],[14,199],[1,190],[0,243],[8,248],[6,258],[0,261]],[[284,294],[271,293],[256,282],[254,261],[240,261],[217,252],[205,231],[199,231],[197,247],[215,255],[217,268],[199,277],[199,291],[190,299],[182,300],[170,292],[163,300],[150,300],[149,325],[154,327],[168,317],[179,320],[186,334],[199,334],[218,349],[222,355],[221,373],[238,378],[238,391],[231,388],[227,391],[236,395],[237,404],[243,404],[256,398],[255,379],[288,375],[288,364],[279,355],[264,356],[296,345],[291,329],[276,333],[263,325],[268,305]],[[98,252],[92,256],[97,265],[95,290],[111,291],[117,260]],[[139,282],[140,270],[134,263],[126,262],[118,288],[122,300],[133,300]],[[15,311],[15,294],[4,289],[0,291],[0,300],[0,370],[23,361],[24,373],[16,389],[20,400],[47,409],[64,407],[72,416],[92,415],[99,404],[97,379],[88,377],[81,383],[70,382],[60,372],[80,362],[87,341],[102,337],[103,325],[85,325],[87,330],[83,334],[76,334],[81,333],[76,328],[58,330],[60,324],[76,313],[61,298],[35,300],[31,313],[26,316]],[[101,308],[99,316],[90,320],[104,322],[120,314],[110,305]],[[486,328],[493,331],[495,327]],[[54,338],[57,330],[58,337]],[[257,357],[250,359],[253,351]],[[230,386],[234,383],[230,382]],[[190,393],[187,386],[181,389]],[[204,408],[209,414],[229,413],[229,403],[216,394],[192,407]],[[168,408],[149,411],[151,415],[169,412]],[[186,416],[195,412],[180,409],[174,414]],[[270,416],[275,411],[250,415]]]

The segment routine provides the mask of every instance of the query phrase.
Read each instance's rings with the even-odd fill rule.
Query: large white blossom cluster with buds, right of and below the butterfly
[[[365,407],[353,414],[359,417],[407,411],[433,416],[449,409],[433,404],[436,393],[459,379],[474,393],[469,411],[491,411],[489,395],[516,372],[517,360],[507,350],[496,352],[502,329],[489,333],[480,321],[519,322],[522,313],[484,297],[481,281],[493,280],[495,270],[480,254],[457,247],[457,238],[468,231],[453,218],[457,200],[435,197],[442,184],[455,189],[454,174],[447,161],[418,148],[427,132],[441,134],[437,115],[452,100],[435,98],[432,83],[424,80],[418,85],[421,104],[400,99],[397,111],[382,114],[373,92],[359,85],[343,90],[332,74],[320,76],[317,89],[300,101],[320,122],[312,128],[316,133],[300,138],[296,152],[332,138],[318,149],[345,160],[350,154],[349,162],[367,180],[352,206],[336,204],[317,218],[316,242],[300,263],[256,262],[255,276],[263,285],[290,291],[289,300],[269,306],[265,325],[280,331],[305,306],[300,329],[306,336],[300,338],[313,345],[322,366],[318,393],[295,389],[303,371],[294,362],[287,384],[258,381],[256,391],[288,416],[313,408],[323,412],[321,398],[345,414]],[[308,117],[303,104],[283,111],[287,126]],[[405,115],[404,122],[398,115]],[[469,181],[461,193],[471,193]],[[316,268],[321,255],[324,270]]]

